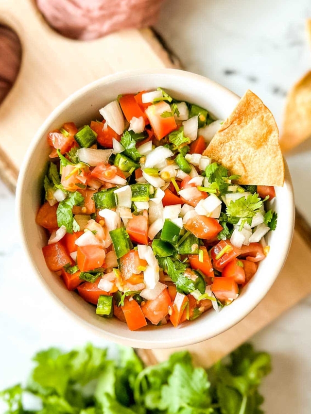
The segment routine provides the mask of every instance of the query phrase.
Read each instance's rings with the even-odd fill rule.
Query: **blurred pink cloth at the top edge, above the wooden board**
[[[49,24],[72,39],[92,40],[155,23],[163,0],[36,0]]]

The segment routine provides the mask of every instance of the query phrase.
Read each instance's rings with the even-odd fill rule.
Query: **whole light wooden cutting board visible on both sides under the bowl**
[[[31,0],[0,0],[0,21],[18,34],[22,63],[17,81],[0,106],[0,172],[15,188],[18,169],[37,128],[70,93],[100,77],[134,68],[175,67],[150,30],[127,30],[80,42],[55,33]],[[235,327],[188,349],[195,361],[213,364],[311,293],[311,230],[297,214],[288,260],[259,306]],[[169,350],[139,350],[148,363]]]

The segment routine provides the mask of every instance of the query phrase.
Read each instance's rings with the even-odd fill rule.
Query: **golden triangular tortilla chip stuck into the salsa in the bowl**
[[[242,177],[239,184],[284,183],[284,162],[276,121],[269,109],[248,90],[216,132],[203,155]]]

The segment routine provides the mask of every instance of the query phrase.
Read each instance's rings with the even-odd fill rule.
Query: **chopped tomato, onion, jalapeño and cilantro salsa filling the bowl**
[[[48,268],[130,330],[193,320],[237,299],[268,251],[274,187],[204,155],[222,124],[166,91],[119,95],[81,128],[48,133]]]

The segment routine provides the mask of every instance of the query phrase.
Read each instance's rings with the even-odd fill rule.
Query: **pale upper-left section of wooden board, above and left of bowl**
[[[72,92],[118,71],[174,66],[149,29],[71,40],[54,32],[30,0],[0,0],[0,22],[22,44],[17,81],[0,106],[0,170],[13,187],[36,130]]]

